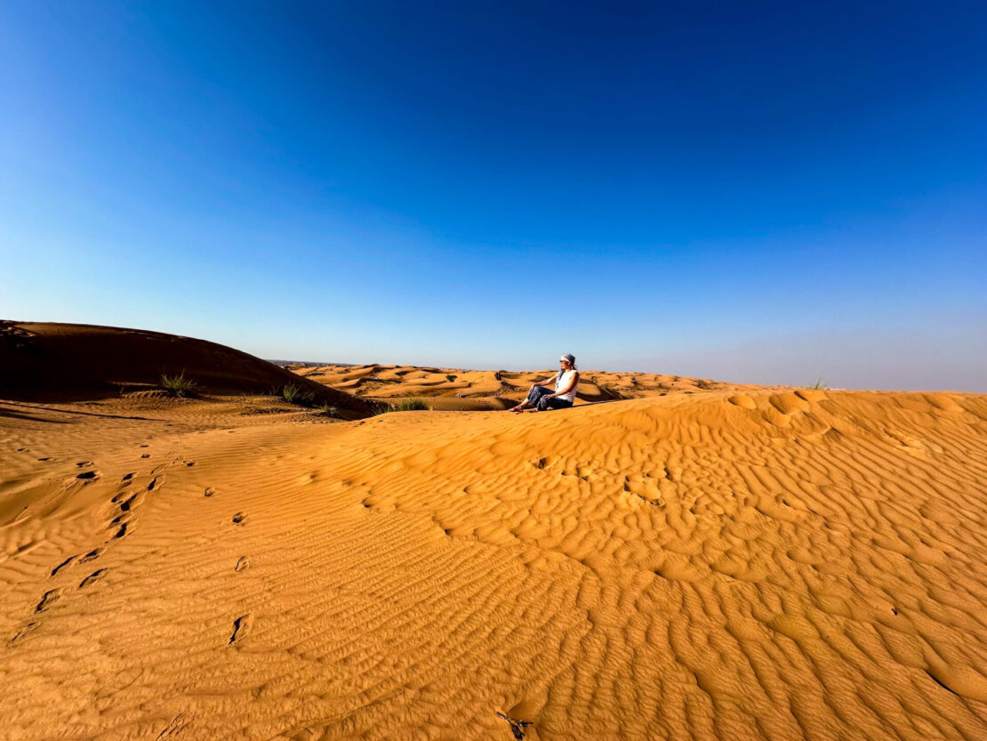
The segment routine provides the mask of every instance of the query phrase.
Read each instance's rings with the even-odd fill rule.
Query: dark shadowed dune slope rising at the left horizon
[[[267,392],[293,383],[364,417],[370,406],[239,350],[161,332],[86,324],[0,322],[0,396],[88,399],[158,388],[185,373],[204,393]]]

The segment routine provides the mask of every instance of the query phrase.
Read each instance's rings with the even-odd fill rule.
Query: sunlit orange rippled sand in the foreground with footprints
[[[985,396],[18,409],[12,740],[987,737]]]

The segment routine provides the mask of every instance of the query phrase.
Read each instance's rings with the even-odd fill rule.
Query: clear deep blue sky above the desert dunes
[[[987,391],[987,5],[0,4],[0,316]]]

